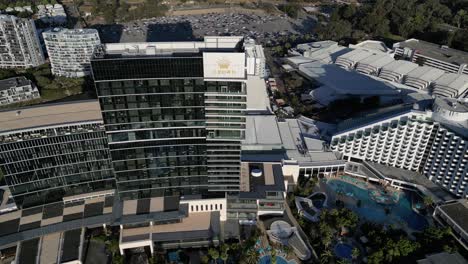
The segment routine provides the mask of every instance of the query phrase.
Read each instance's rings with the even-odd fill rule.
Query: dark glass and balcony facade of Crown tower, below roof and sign
[[[245,85],[203,79],[201,57],[92,61],[122,199],[239,190]]]

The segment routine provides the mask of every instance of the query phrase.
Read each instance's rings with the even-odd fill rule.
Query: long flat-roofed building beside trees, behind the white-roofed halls
[[[468,74],[468,53],[434,43],[408,39],[393,45],[395,56],[420,66],[430,66],[445,72]]]

